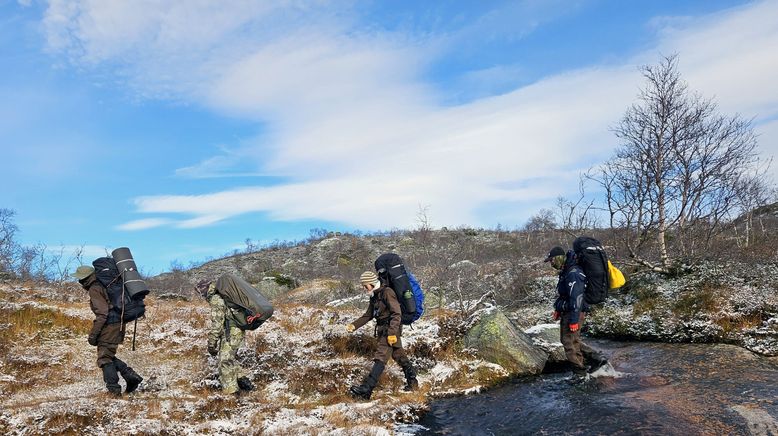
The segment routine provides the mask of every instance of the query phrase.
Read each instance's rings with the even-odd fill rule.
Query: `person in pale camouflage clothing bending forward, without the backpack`
[[[254,387],[251,381],[242,376],[242,370],[236,360],[238,349],[243,345],[246,332],[239,327],[239,309],[230,307],[219,294],[218,281],[201,280],[197,290],[211,306],[211,323],[208,327],[208,354],[218,357],[219,382],[222,392],[228,395],[240,395]]]

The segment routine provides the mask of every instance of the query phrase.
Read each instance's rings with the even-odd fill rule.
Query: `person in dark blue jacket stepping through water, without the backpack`
[[[608,363],[602,354],[581,341],[581,325],[590,311],[584,299],[586,275],[576,263],[575,252],[565,252],[562,247],[552,248],[544,262],[550,262],[559,271],[552,317],[554,321],[561,320],[559,339],[573,373],[580,379],[586,376],[586,362],[590,363],[591,372]]]

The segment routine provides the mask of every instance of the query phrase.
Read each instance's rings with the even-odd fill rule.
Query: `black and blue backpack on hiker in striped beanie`
[[[392,288],[402,311],[402,323],[410,325],[424,313],[424,291],[419,282],[405,268],[400,256],[385,253],[378,256],[375,269],[381,283]]]

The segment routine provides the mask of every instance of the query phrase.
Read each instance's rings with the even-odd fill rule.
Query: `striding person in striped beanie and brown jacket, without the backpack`
[[[378,347],[373,356],[373,368],[362,384],[351,386],[351,395],[354,398],[369,400],[390,357],[402,367],[405,374],[406,384],[403,390],[418,389],[419,381],[416,379],[416,369],[402,346],[402,311],[397,295],[392,288],[382,284],[372,271],[362,273],[359,281],[365,292],[370,294],[370,304],[362,316],[346,326],[346,330],[352,333],[370,320],[375,319],[374,334],[378,338]]]

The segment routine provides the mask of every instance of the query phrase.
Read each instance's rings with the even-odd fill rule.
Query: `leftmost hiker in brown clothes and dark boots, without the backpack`
[[[126,393],[131,393],[143,381],[124,361],[116,357],[119,344],[124,342],[125,323],[122,314],[110,303],[108,293],[97,280],[95,269],[89,265],[81,265],[71,274],[89,293],[89,306],[95,314],[92,330],[87,341],[97,347],[97,366],[103,371],[103,381],[108,392],[121,397],[122,387],[119,385],[119,374],[124,378]]]

